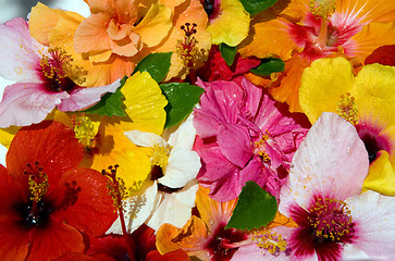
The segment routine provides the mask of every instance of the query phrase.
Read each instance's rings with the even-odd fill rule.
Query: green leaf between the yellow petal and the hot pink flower
[[[166,112],[164,128],[174,126],[188,116],[205,91],[202,88],[187,83],[161,84],[160,88],[169,101],[164,108]]]

